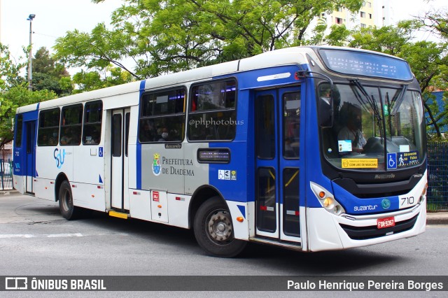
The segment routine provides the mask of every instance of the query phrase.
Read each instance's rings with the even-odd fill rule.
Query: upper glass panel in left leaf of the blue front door
[[[275,156],[275,108],[272,95],[262,95],[255,101],[255,130],[257,155],[260,159]]]

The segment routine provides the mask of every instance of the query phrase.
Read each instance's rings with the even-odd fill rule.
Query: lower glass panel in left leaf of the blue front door
[[[260,231],[275,232],[276,230],[276,187],[275,169],[258,169],[257,190],[257,228]]]

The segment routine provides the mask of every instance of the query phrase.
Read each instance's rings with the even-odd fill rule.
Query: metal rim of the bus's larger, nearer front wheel
[[[207,218],[206,232],[211,241],[219,245],[232,242],[232,220],[225,210],[216,210]]]

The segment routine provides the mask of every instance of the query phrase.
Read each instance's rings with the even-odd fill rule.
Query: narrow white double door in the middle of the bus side
[[[129,211],[128,141],[130,108],[112,111],[111,207]]]

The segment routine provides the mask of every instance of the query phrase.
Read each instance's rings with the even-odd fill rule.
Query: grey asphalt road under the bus
[[[365,248],[298,253],[249,243],[222,259],[186,229],[103,213],[67,221],[55,202],[0,196],[4,276],[447,276],[447,247],[448,226],[428,225],[414,238]]]

